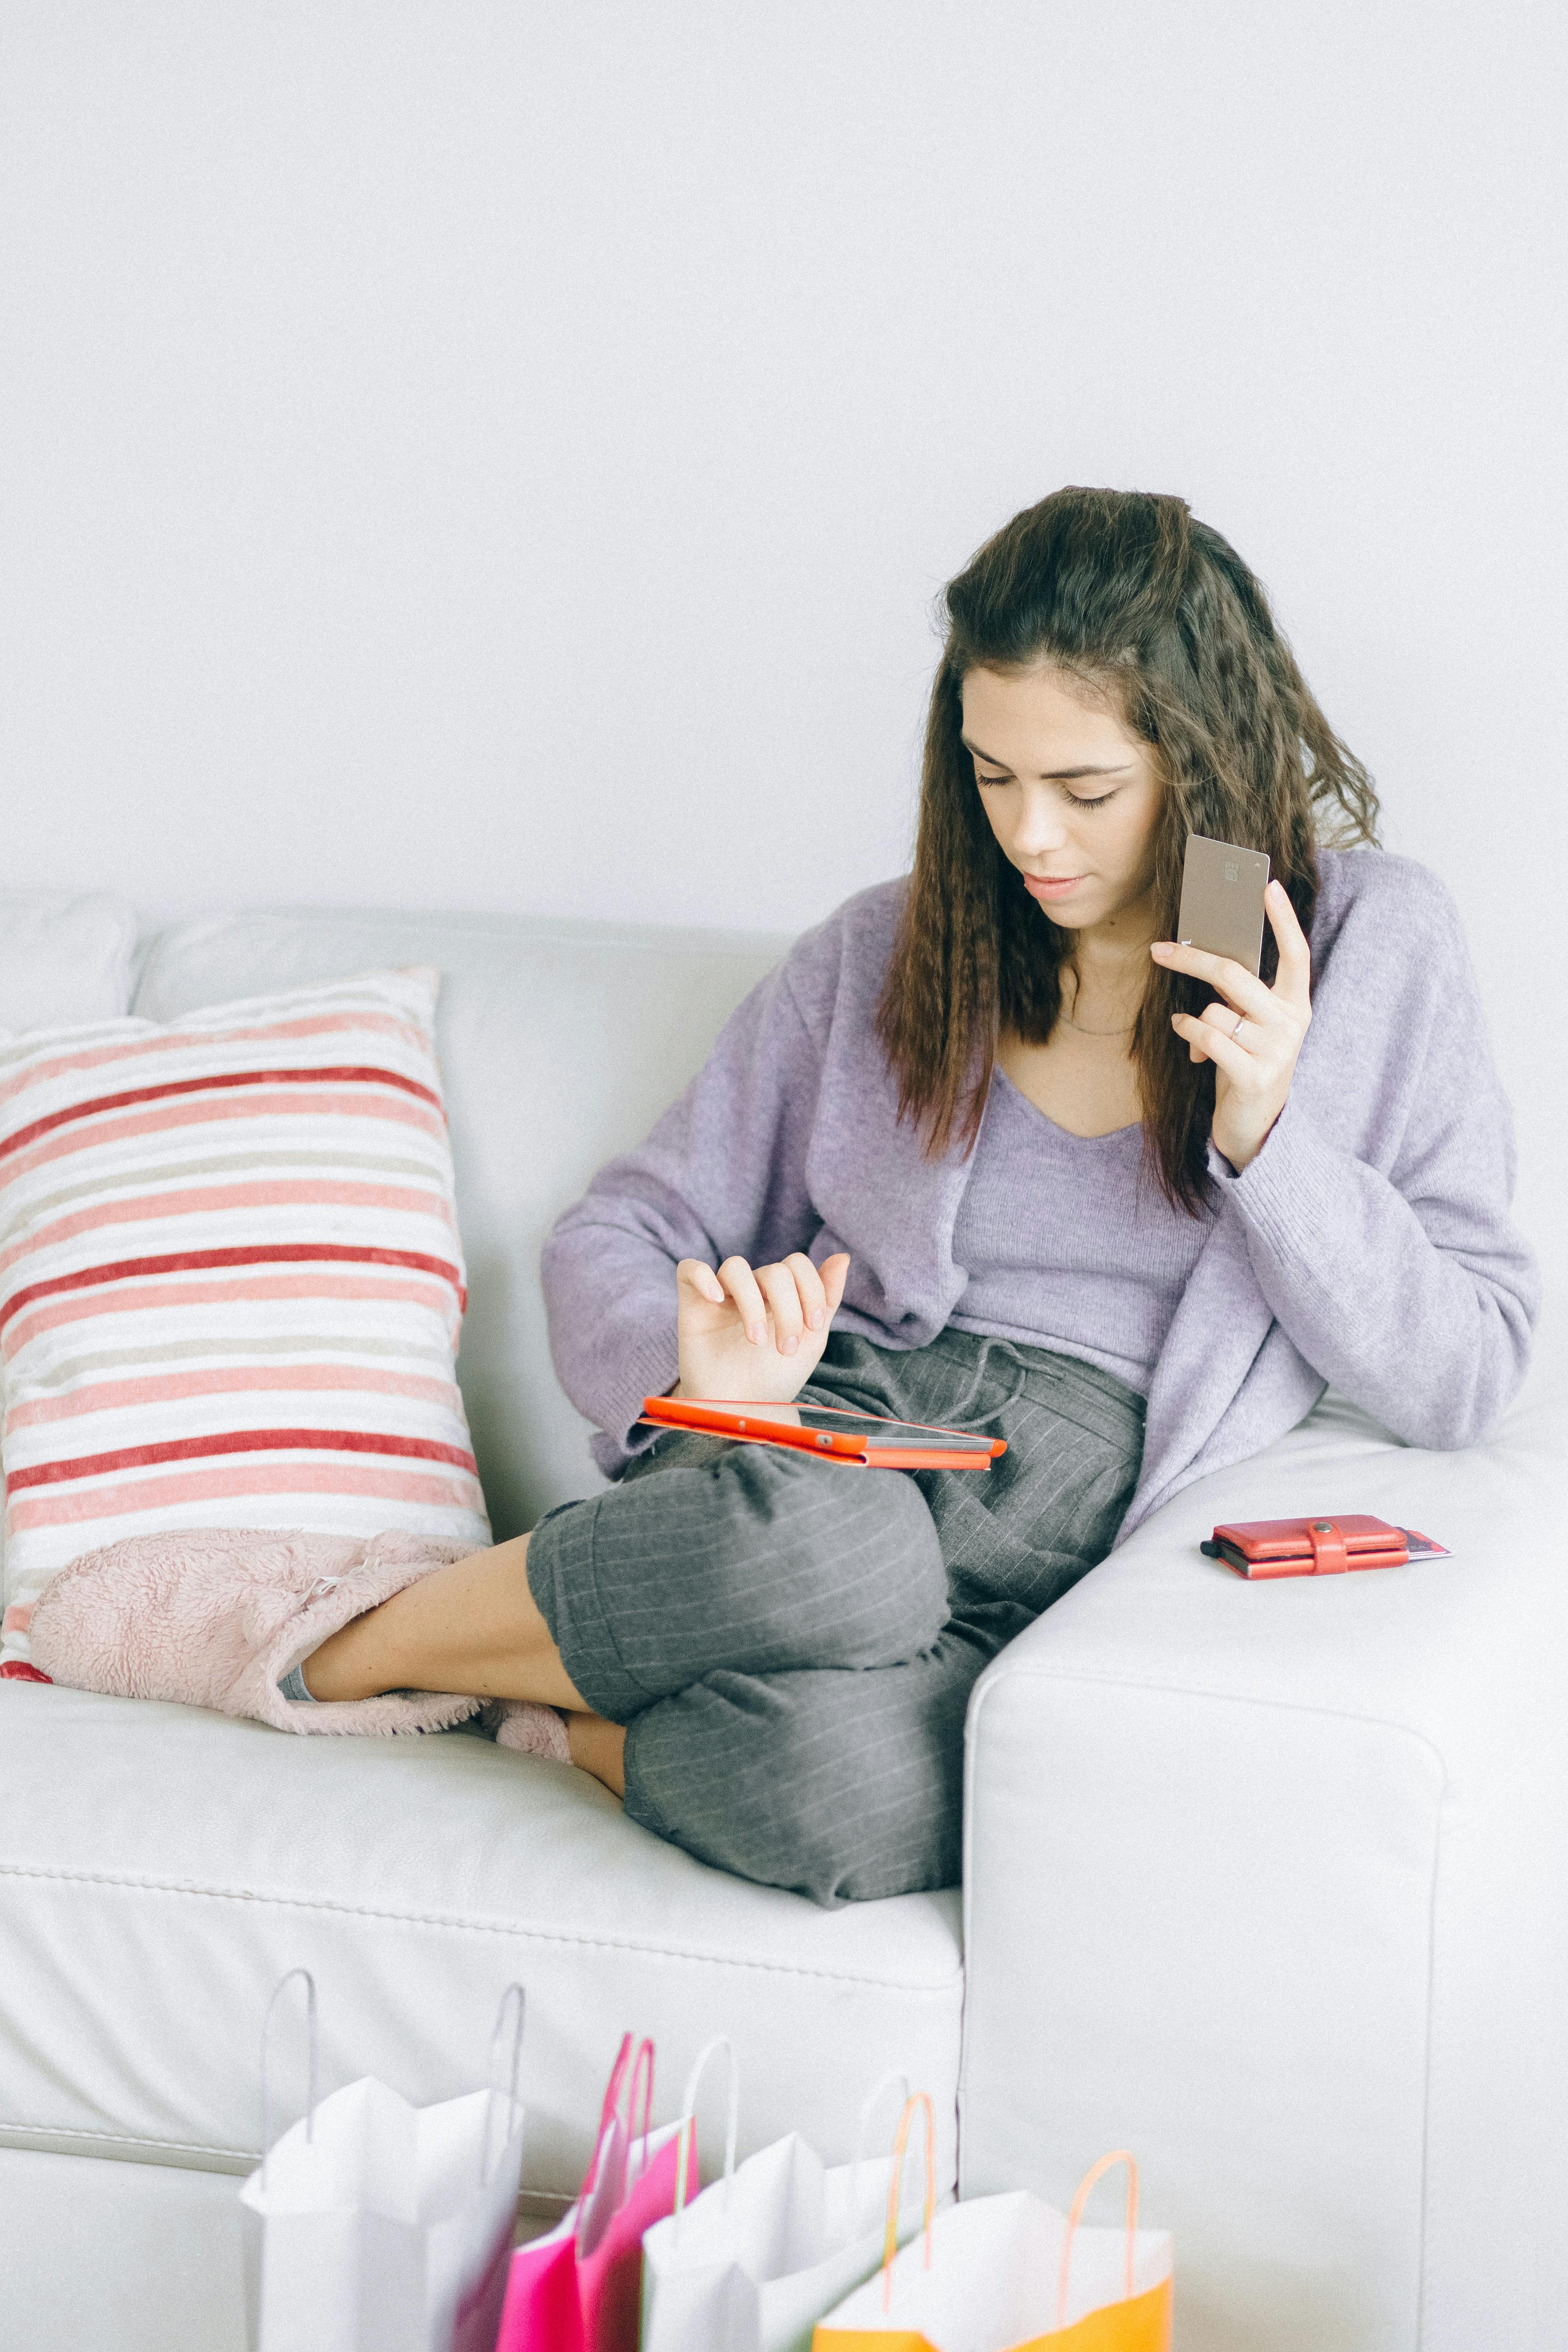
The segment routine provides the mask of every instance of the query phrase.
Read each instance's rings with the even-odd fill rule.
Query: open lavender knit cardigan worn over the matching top
[[[1509,1223],[1514,1141],[1455,906],[1410,858],[1319,851],[1312,1028],[1291,1098],[1218,1209],[1154,1367],[1124,1541],[1293,1428],[1328,1381],[1413,1446],[1474,1444],[1540,1301]],[[550,1352],[616,1477],[672,1385],[675,1261],[851,1251],[835,1324],[922,1348],[966,1272],[971,1162],[922,1157],[872,1028],[905,880],[856,891],[736,1007],[708,1063],[543,1249]],[[1046,1218],[1046,1200],[1020,1200]]]

